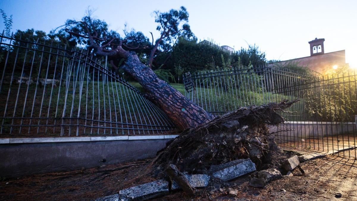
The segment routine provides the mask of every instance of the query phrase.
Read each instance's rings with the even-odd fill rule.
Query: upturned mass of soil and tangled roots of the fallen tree
[[[152,173],[164,176],[174,164],[181,172],[207,173],[211,165],[251,158],[257,166],[267,153],[277,148],[267,125],[284,119],[277,113],[298,100],[239,108],[196,128],[186,129],[167,143],[152,162]]]

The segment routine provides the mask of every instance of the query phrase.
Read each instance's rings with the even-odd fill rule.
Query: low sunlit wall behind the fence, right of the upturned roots
[[[284,142],[290,142],[301,138],[353,133],[357,132],[357,127],[355,122],[286,122],[280,126],[271,126],[269,130],[277,132],[276,136]]]

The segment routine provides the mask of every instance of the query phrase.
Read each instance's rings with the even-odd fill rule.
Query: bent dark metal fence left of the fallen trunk
[[[111,72],[105,58],[47,43],[0,37],[2,137],[157,134],[175,128]]]

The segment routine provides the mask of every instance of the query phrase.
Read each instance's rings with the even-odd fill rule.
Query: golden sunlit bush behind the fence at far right
[[[305,109],[322,121],[350,122],[357,114],[357,80],[348,66],[312,80],[303,90]]]

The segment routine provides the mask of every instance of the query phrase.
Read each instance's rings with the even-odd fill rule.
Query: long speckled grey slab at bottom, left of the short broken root
[[[147,200],[169,194],[169,182],[157,180],[119,191],[122,200]]]

